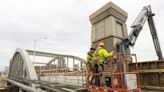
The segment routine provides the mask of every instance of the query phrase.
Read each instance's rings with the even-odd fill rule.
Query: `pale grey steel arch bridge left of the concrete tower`
[[[32,62],[31,57],[46,57]],[[34,57],[35,57],[34,56]],[[10,60],[9,92],[70,92],[83,85],[86,61],[73,55],[61,55],[17,48]]]

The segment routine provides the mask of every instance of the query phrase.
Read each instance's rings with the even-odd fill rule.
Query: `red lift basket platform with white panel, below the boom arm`
[[[137,63],[136,54],[119,54],[117,58],[112,59],[113,62],[108,65],[104,65],[104,71],[94,74],[100,80],[100,85],[88,85],[84,84],[84,88],[89,92],[141,92],[140,79],[138,78],[138,72],[126,72],[122,67],[127,57],[134,57]],[[138,68],[136,64],[136,68]],[[127,70],[127,66],[125,68]],[[96,80],[95,80],[96,81]]]

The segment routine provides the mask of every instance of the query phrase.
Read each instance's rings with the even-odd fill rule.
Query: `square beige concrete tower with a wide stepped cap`
[[[89,16],[92,24],[91,42],[97,47],[99,42],[105,43],[108,51],[116,50],[116,43],[127,37],[127,12],[112,2]],[[126,53],[129,53],[129,49]]]

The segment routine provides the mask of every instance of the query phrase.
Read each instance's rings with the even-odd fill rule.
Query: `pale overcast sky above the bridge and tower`
[[[0,70],[16,48],[71,54],[85,58],[91,43],[89,15],[112,0],[0,0]],[[151,5],[164,53],[164,0],[113,0],[128,13],[127,28],[142,7]],[[139,60],[157,59],[148,25],[132,50]]]

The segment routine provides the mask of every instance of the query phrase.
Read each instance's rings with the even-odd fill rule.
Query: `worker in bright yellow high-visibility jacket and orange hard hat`
[[[107,62],[107,59],[112,56],[113,52],[108,53],[108,51],[104,49],[104,43],[100,42],[93,54],[93,66],[96,74],[104,71],[104,64]],[[95,85],[100,86],[100,75],[96,75]]]

